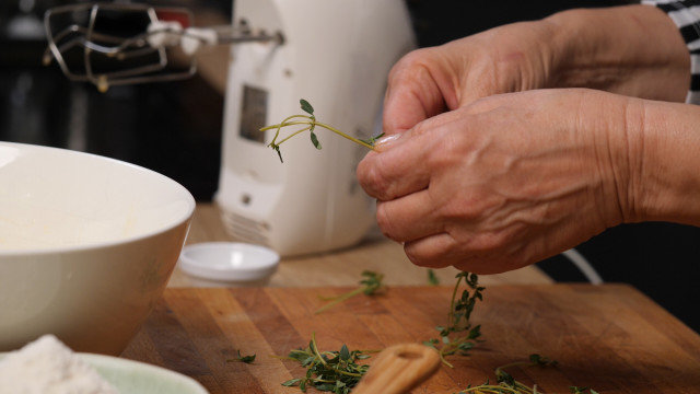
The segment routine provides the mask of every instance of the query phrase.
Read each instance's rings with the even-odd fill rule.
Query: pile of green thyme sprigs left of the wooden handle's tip
[[[320,351],[316,344],[316,334],[312,334],[306,349],[290,351],[287,359],[299,361],[306,368],[303,378],[283,382],[283,386],[299,386],[302,392],[313,387],[322,392],[348,394],[370,369],[358,361],[370,358],[373,350],[352,350],[342,345],[339,351]]]

